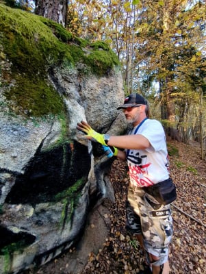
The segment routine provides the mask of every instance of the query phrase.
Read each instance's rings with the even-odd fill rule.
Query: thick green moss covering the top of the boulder
[[[8,105],[27,116],[62,112],[63,100],[48,83],[54,66],[74,68],[83,63],[86,66],[80,73],[99,76],[119,66],[115,53],[104,42],[90,44],[47,18],[0,4],[0,61],[5,60],[10,69],[0,65],[0,83]]]

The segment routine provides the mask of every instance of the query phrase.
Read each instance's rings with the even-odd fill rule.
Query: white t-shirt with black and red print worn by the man
[[[151,147],[126,150],[131,186],[151,186],[168,179],[168,151],[162,124],[157,120],[146,119],[142,125],[134,127],[130,134],[135,132],[146,137]]]

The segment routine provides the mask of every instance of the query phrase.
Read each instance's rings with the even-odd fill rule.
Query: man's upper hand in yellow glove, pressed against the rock
[[[77,129],[80,130],[80,132],[87,134],[86,138],[89,140],[93,140],[94,142],[99,142],[101,145],[107,146],[104,140],[104,134],[95,132],[95,130],[92,129],[88,123],[84,121],[77,123]]]

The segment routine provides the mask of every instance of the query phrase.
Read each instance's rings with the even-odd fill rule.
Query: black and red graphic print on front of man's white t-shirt
[[[151,165],[150,162],[147,162],[147,155],[140,155],[139,152],[133,155],[133,151],[131,151],[127,155],[127,161],[131,185],[144,187],[154,184],[149,177],[145,176],[148,174],[147,169]]]

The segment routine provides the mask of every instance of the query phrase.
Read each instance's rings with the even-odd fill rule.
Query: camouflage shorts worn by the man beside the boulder
[[[168,260],[168,245],[172,240],[172,213],[170,205],[160,205],[142,188],[129,188],[127,203],[127,229],[133,234],[142,232],[147,253],[159,257],[153,265]]]

